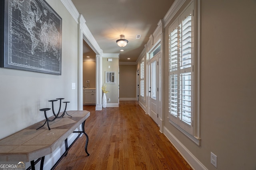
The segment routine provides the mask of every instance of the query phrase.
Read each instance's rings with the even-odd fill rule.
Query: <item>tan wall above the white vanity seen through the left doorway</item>
[[[96,61],[83,61],[83,86],[90,80],[90,88],[96,88]]]

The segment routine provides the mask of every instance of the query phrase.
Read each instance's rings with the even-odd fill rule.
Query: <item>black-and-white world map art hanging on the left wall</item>
[[[45,0],[0,0],[0,67],[61,75],[62,18]]]

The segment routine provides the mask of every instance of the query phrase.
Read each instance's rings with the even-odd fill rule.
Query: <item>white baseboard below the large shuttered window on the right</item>
[[[164,135],[194,170],[208,170],[166,127]]]

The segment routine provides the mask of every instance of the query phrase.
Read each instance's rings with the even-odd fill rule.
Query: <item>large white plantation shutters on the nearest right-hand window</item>
[[[170,121],[193,133],[192,5],[169,28]]]

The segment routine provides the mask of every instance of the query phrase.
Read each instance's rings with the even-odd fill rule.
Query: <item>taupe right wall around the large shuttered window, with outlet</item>
[[[210,152],[218,156],[220,170],[256,169],[255,8],[255,0],[202,0],[201,146],[169,123],[164,93],[164,126],[209,170],[216,169],[210,164]],[[168,92],[168,26],[164,92]]]

